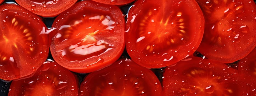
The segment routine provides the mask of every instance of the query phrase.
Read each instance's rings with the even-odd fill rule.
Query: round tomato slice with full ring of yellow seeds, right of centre
[[[193,0],[139,0],[128,13],[126,49],[148,68],[170,66],[199,46],[204,17]]]

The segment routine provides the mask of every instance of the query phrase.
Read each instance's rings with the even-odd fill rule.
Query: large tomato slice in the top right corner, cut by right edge
[[[232,63],[256,46],[256,5],[252,0],[196,0],[205,17],[198,51],[207,58]]]

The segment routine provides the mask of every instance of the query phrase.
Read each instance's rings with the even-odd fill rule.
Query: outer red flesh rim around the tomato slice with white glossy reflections
[[[61,24],[68,22],[62,18],[73,18],[72,16],[77,17],[77,15],[74,13],[75,12],[81,13],[81,11],[77,11],[77,10],[88,10],[88,9],[95,10],[93,12],[97,12],[97,11],[110,12],[112,17],[115,18],[114,20],[120,21],[119,22],[120,25],[117,26],[117,24],[116,24],[116,26],[115,26],[116,29],[113,28],[115,30],[115,32],[117,32],[117,33],[111,34],[111,35],[116,36],[115,39],[113,38],[114,39],[113,41],[115,41],[113,44],[116,44],[117,48],[114,49],[115,50],[114,52],[108,51],[108,53],[103,53],[103,54],[100,54],[97,56],[93,56],[93,57],[90,57],[89,59],[85,58],[84,60],[73,60],[73,61],[65,60],[65,58],[62,58],[61,52],[58,52],[59,50],[55,49],[56,45],[60,44],[60,42],[54,41],[56,39],[56,36],[58,35],[58,30],[60,29]],[[83,13],[86,14],[86,12],[83,12]],[[70,15],[68,15],[68,14],[70,14]],[[80,15],[83,16],[83,14],[80,14]],[[55,35],[53,37],[53,42],[50,46],[52,56],[56,60],[57,63],[59,63],[61,66],[65,67],[73,72],[89,73],[89,72],[93,72],[93,71],[102,69],[102,68],[114,63],[122,55],[122,52],[125,48],[124,27],[123,26],[125,26],[124,18],[122,16],[121,10],[118,7],[116,7],[114,5],[100,4],[100,3],[97,3],[94,1],[78,2],[77,4],[72,6],[69,10],[66,10],[65,12],[61,13],[55,19],[55,21],[52,25],[52,27],[57,28],[56,30],[54,30],[52,32],[52,36]],[[111,55],[109,55],[109,54],[111,54]],[[70,58],[72,58],[72,57],[70,57]],[[73,59],[76,59],[76,58],[73,58]],[[100,62],[98,63],[97,60],[99,60]],[[94,63],[97,63],[97,64],[94,64]]]

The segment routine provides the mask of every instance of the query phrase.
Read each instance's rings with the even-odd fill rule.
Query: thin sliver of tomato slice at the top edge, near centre
[[[110,4],[110,5],[125,5],[135,0],[92,0],[92,1],[103,3],[103,4]]]

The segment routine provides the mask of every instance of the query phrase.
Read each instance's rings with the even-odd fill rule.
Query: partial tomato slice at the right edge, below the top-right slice
[[[239,74],[249,85],[249,96],[256,95],[256,49],[238,63]]]

